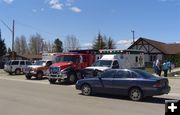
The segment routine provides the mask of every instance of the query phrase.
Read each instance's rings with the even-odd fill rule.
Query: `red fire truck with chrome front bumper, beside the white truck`
[[[82,78],[81,70],[96,61],[97,50],[73,50],[57,55],[56,61],[49,67],[48,80],[51,84],[61,81],[75,83]]]

